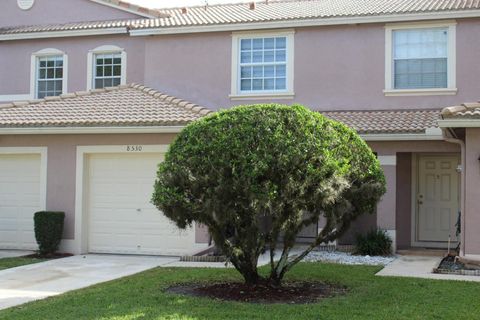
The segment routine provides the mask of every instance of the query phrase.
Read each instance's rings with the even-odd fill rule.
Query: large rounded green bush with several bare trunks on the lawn
[[[347,126],[303,106],[239,106],[188,125],[159,165],[152,202],[180,228],[208,226],[246,282],[271,256],[270,280],[316,245],[339,237],[385,192],[380,165]],[[308,212],[308,215],[305,213]],[[302,255],[289,259],[297,234],[327,224]],[[274,257],[281,240],[282,255]]]

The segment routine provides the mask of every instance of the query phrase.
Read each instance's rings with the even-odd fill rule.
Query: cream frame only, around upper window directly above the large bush
[[[250,31],[250,32],[233,32],[232,33],[232,79],[231,100],[251,100],[251,99],[293,99],[295,96],[293,90],[294,83],[294,34],[295,30],[279,30],[279,31]],[[255,38],[275,38],[286,37],[286,89],[278,91],[260,91],[260,92],[241,92],[240,90],[240,41],[242,39]]]

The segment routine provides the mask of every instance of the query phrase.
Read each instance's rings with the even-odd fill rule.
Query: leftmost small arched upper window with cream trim
[[[59,96],[67,91],[67,55],[57,49],[32,54],[31,95],[35,99]]]

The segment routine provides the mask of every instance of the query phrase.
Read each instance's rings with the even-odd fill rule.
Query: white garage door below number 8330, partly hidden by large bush
[[[194,231],[180,231],[150,203],[162,160],[159,153],[89,156],[89,252],[182,255],[194,250]]]

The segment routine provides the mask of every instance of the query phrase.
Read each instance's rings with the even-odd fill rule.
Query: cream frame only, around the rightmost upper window
[[[392,23],[385,25],[385,96],[455,95],[456,84],[456,21],[437,21],[421,23]],[[393,76],[393,31],[406,29],[448,29],[447,88],[432,89],[395,89]]]

